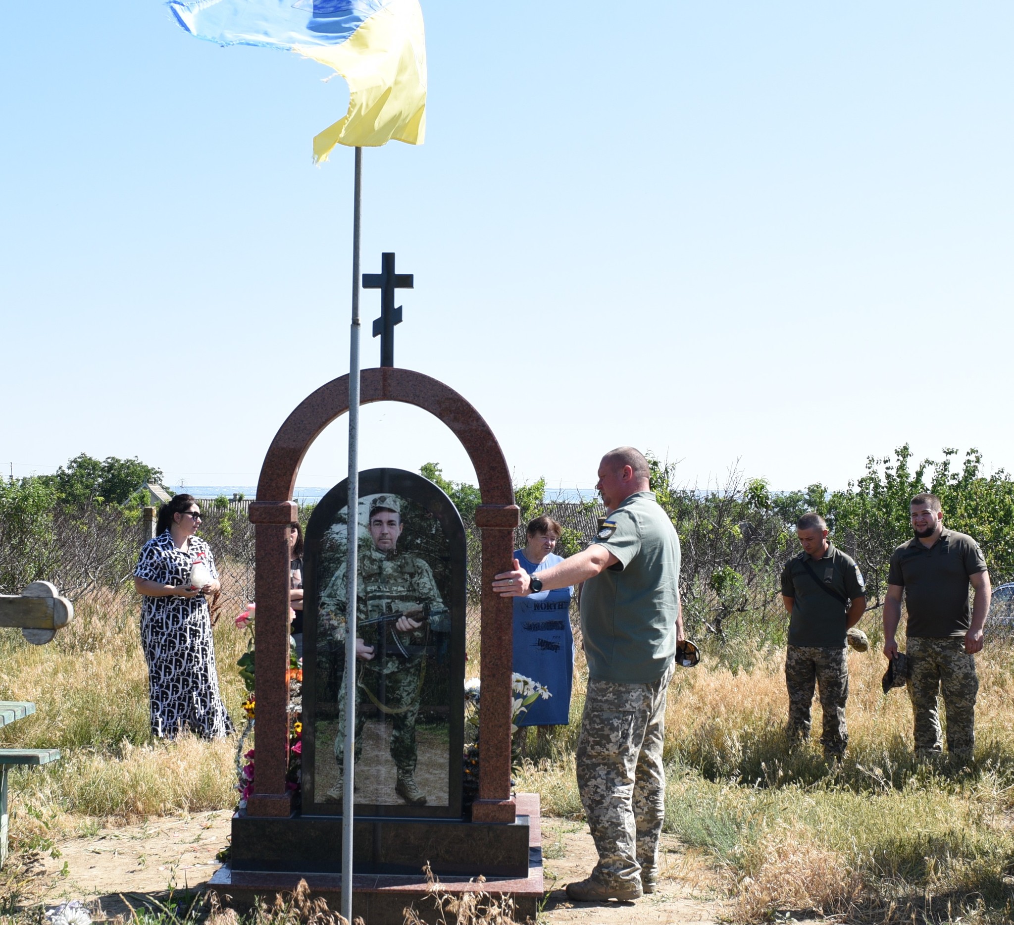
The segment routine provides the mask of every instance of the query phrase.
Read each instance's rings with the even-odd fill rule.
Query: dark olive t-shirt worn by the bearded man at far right
[[[914,538],[894,550],[887,583],[904,588],[907,635],[943,639],[967,633],[968,577],[985,571],[979,544],[955,530],[945,528],[929,549]]]

